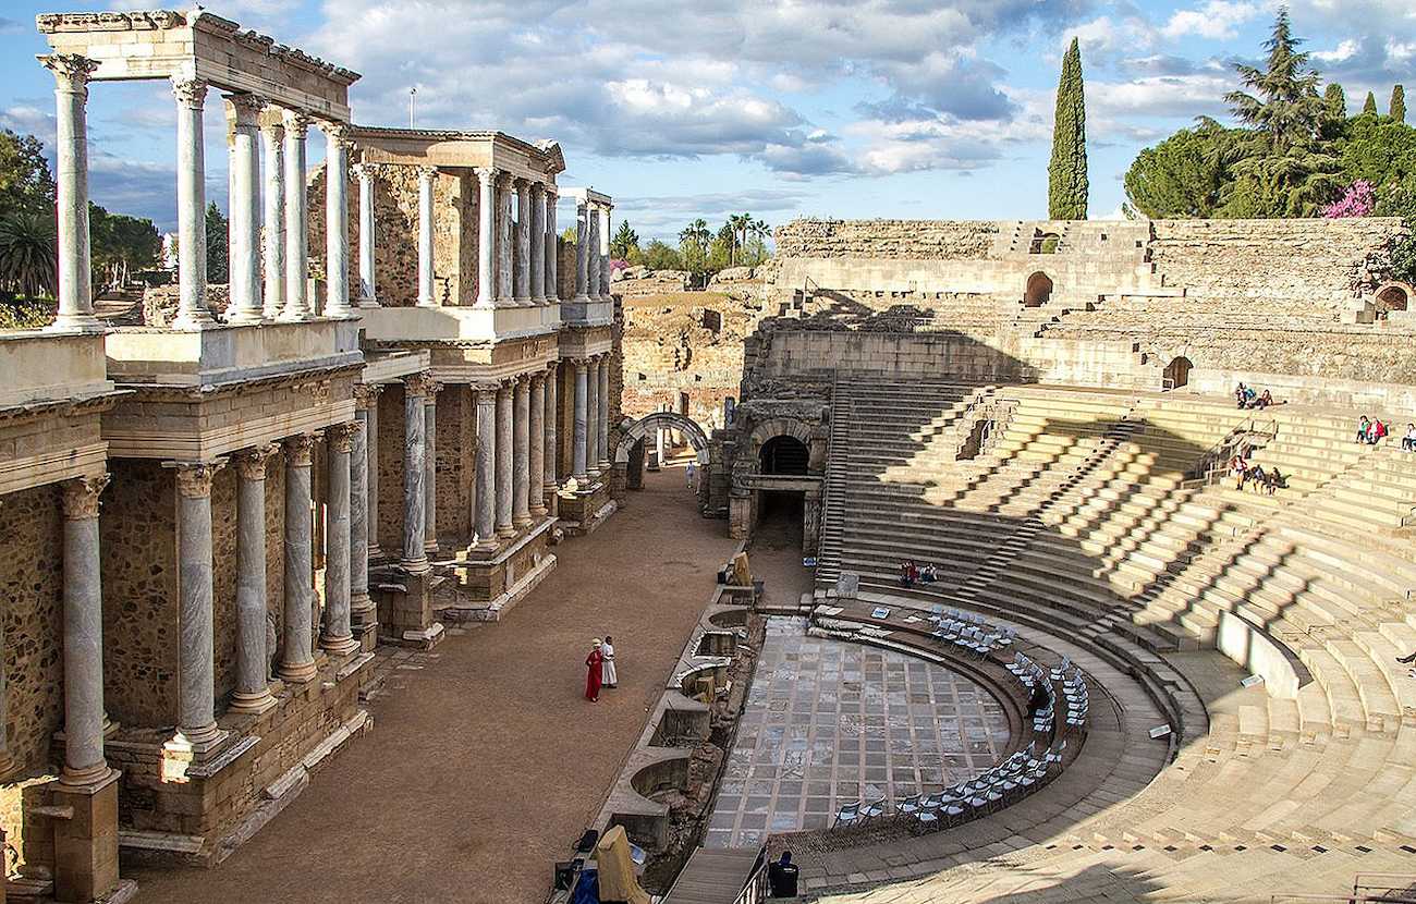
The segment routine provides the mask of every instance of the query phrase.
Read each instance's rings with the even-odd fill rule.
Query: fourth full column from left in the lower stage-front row
[[[314,547],[310,520],[313,434],[285,441],[285,631],[276,674],[304,684],[314,666]]]

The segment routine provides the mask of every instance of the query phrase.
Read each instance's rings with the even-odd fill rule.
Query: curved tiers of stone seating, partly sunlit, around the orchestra
[[[1416,871],[1416,679],[1396,662],[1416,650],[1416,455],[1355,443],[1344,411],[1070,387],[855,380],[833,424],[818,595],[851,571],[862,599],[1075,649],[1136,697],[1117,708],[1134,784],[1054,799],[1082,757],[997,819],[809,850],[809,891],[1267,901]],[[1239,443],[1286,486],[1205,479]],[[901,587],[906,558],[939,581]],[[1174,759],[1147,775],[1161,724]]]

